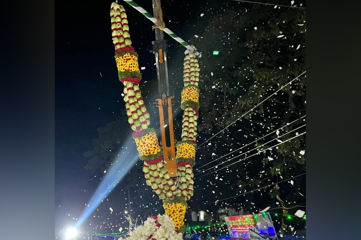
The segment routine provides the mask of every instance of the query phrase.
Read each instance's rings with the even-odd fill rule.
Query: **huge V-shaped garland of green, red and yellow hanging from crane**
[[[154,129],[148,128],[150,116],[145,108],[138,85],[142,78],[142,74],[139,71],[138,54],[131,47],[127,15],[123,6],[112,3],[110,17],[119,80],[124,85],[124,101],[128,122],[134,131],[133,138],[139,152],[139,157],[144,161],[143,172],[146,183],[163,200],[165,212],[173,219],[175,229],[179,232],[185,232],[184,216],[187,209],[186,201],[193,196],[194,175],[192,167],[195,164],[199,109],[199,89],[197,87],[199,82],[198,61],[192,53],[184,58],[184,88],[181,102],[181,108],[184,110],[183,130],[182,141],[177,143],[175,161],[178,171],[176,185],[165,168],[163,152],[158,143],[156,132]],[[151,227],[150,223],[147,224],[146,228],[153,232],[154,228]],[[145,225],[142,227],[144,228]],[[139,232],[142,231],[139,230]],[[145,235],[142,234],[137,236],[139,238],[130,239],[148,239],[144,238]],[[155,236],[153,235],[151,240],[157,239]],[[168,238],[161,237],[160,239]]]

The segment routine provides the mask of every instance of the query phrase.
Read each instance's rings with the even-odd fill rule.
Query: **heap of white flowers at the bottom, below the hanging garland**
[[[160,226],[157,226],[157,223]],[[157,220],[148,217],[144,225],[130,232],[126,240],[182,240],[183,234],[175,231],[172,219],[164,214],[158,214]]]

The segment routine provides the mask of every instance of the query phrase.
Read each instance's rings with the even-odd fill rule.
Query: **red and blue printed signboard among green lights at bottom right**
[[[249,230],[269,239],[277,239],[269,213],[225,217],[229,236],[234,239],[252,239]]]

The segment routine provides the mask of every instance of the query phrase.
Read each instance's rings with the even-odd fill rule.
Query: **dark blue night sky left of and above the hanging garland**
[[[111,3],[57,3],[61,5],[58,8],[66,10],[58,12],[56,18],[56,232],[74,225],[96,189],[101,174],[84,169],[88,159],[83,153],[92,149],[97,128],[115,121],[124,108],[123,85],[117,76],[110,28]],[[152,13],[151,0],[136,3]],[[155,57],[149,53],[151,42],[155,40],[153,23],[126,3],[120,1],[119,4],[127,11],[132,46],[139,54],[139,67],[145,67],[141,71],[142,81],[156,81]],[[186,41],[200,34],[209,17],[222,8],[246,6],[235,1],[205,0],[162,1],[161,4],[166,26]],[[200,17],[201,13],[203,17]],[[182,79],[181,63],[186,49],[168,35],[165,39],[169,44],[168,70],[172,85]],[[119,205],[118,201],[110,195],[109,202],[101,204],[99,210],[109,212],[109,207]]]

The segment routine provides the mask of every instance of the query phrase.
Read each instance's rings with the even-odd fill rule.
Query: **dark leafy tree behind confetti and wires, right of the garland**
[[[260,4],[250,9],[225,9],[209,19],[204,32],[191,43],[203,55],[199,130],[214,134],[231,124],[220,134],[228,149],[261,138],[239,152],[255,150],[222,164],[249,157],[242,160],[243,165],[234,164],[217,173],[231,174],[230,170],[244,168],[245,174],[237,175],[238,192],[267,185],[265,180],[272,176],[304,173],[306,141],[305,134],[300,135],[306,131],[306,77],[297,76],[306,71],[305,9]],[[217,163],[222,161],[225,159]],[[279,193],[269,189],[271,196]]]

